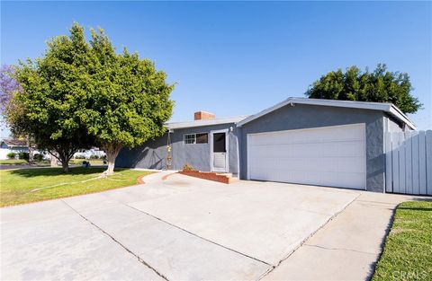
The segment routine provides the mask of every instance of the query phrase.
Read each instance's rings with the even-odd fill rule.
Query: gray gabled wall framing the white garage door
[[[287,105],[241,127],[240,178],[247,179],[247,134],[365,123],[366,189],[383,192],[383,112],[327,106]]]

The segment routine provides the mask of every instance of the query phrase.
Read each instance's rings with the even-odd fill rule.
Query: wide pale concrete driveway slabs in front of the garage
[[[365,194],[165,174],[1,209],[1,278],[284,279],[284,259]]]

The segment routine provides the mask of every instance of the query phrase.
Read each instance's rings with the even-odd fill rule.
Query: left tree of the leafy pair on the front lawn
[[[70,36],[48,42],[43,57],[30,59],[15,69],[23,88],[8,105],[8,123],[14,132],[31,136],[38,148],[48,150],[68,171],[78,149],[94,145],[77,112],[85,102],[85,81],[90,49],[83,29],[71,28]]]

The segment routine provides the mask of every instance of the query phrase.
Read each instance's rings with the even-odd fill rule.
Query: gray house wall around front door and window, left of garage
[[[191,127],[175,129],[170,133],[171,155],[173,157],[172,169],[181,170],[185,163],[193,165],[193,168],[200,171],[211,171],[211,137],[212,130],[229,129],[233,127],[233,132],[228,133],[229,142],[229,172],[238,174],[238,129],[235,124],[222,124],[207,127]],[[208,133],[209,142],[207,144],[184,144],[184,134]],[[117,157],[117,167],[134,167],[148,169],[166,169],[166,143],[167,135],[148,141],[134,149],[123,148]]]

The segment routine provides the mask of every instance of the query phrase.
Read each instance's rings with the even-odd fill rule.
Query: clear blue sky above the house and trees
[[[410,75],[432,128],[431,2],[1,2],[1,63],[40,57],[73,22],[148,57],[176,83],[171,121],[254,114],[348,66]],[[311,117],[313,118],[313,117]],[[2,130],[2,137],[7,130]]]

